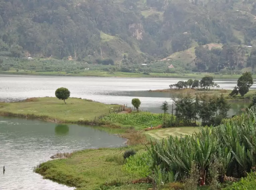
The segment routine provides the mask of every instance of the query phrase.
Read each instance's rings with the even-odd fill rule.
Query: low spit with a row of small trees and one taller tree
[[[220,86],[214,82],[213,77],[204,76],[201,80],[178,81],[176,84],[169,85],[169,89],[149,90],[149,92],[170,93],[173,98],[186,96],[195,98],[198,96],[199,99],[202,96],[213,98],[222,94],[229,101],[250,102],[250,99],[256,95],[256,90],[249,90],[252,84],[252,75],[249,72],[245,72],[238,79],[234,90],[220,89]]]

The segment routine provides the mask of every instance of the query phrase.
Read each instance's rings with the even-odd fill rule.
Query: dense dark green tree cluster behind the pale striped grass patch
[[[196,96],[195,99],[187,96],[173,99],[173,104],[176,119],[170,123],[171,126],[195,126],[197,121],[201,121],[203,126],[216,126],[227,117],[230,109],[230,104],[223,94],[211,98],[206,95]]]

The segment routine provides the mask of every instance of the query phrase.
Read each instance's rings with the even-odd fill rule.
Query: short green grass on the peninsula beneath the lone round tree
[[[109,112],[110,107],[116,109],[119,105],[107,105],[78,98],[69,98],[65,104],[57,98],[31,98],[22,102],[0,103],[0,115],[13,113],[21,115],[47,116],[57,121],[94,120],[95,117]]]

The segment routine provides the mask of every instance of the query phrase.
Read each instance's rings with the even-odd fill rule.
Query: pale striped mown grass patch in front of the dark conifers
[[[184,136],[192,135],[193,132],[198,132],[199,127],[172,127],[146,131],[145,134],[153,139],[161,140],[169,136]]]

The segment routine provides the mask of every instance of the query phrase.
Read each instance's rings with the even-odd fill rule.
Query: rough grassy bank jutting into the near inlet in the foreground
[[[146,190],[150,184],[130,184],[138,176],[122,171],[121,165],[125,163],[123,152],[131,147],[100,148],[77,151],[69,159],[51,160],[39,165],[35,171],[44,178],[58,181],[62,184],[77,187],[77,190],[95,190],[102,186],[122,184],[118,190]],[[135,150],[142,146],[132,147]],[[145,149],[145,147],[144,147]]]

